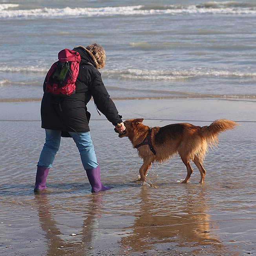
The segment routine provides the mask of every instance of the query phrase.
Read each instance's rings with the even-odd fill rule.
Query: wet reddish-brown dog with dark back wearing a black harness
[[[139,169],[141,181],[146,180],[146,173],[154,162],[161,163],[172,155],[179,154],[187,167],[187,177],[183,183],[187,183],[193,170],[190,165],[192,160],[201,174],[200,183],[204,182],[205,169],[203,160],[208,146],[216,146],[218,134],[226,130],[232,130],[238,124],[225,119],[214,121],[209,126],[195,126],[188,123],[169,124],[163,127],[150,128],[142,124],[144,119],[129,119],[124,121],[126,130],[119,133],[119,137],[128,137],[134,148],[137,148],[139,156],[143,159],[143,165]],[[118,132],[117,130],[115,130]]]

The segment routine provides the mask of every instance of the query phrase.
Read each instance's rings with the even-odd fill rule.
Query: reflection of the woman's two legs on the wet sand
[[[44,236],[47,240],[47,256],[89,256],[93,254],[93,246],[97,243],[97,236],[99,230],[99,222],[101,219],[101,194],[91,195],[90,202],[84,206],[86,212],[82,212],[84,219],[81,231],[76,234],[75,238],[62,234],[58,226],[62,223],[57,223],[53,217],[54,206],[49,203],[47,194],[40,193],[35,195],[38,203],[38,217]],[[72,219],[72,216],[70,216]],[[62,224],[63,225],[63,224]],[[70,240],[62,239],[70,238]],[[72,237],[72,238],[71,238]]]

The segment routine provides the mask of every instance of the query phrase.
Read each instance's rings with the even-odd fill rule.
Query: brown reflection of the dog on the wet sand
[[[171,204],[172,199],[168,198],[170,205],[163,201],[159,208],[151,191],[141,189],[139,214],[132,226],[133,232],[123,238],[121,244],[130,248],[130,252],[158,251],[156,255],[182,251],[190,254],[204,251],[207,255],[210,252],[214,255],[229,252],[214,234],[216,227],[207,214],[204,188],[184,186],[183,189],[185,193],[182,196],[174,195],[174,201],[180,201],[179,206]],[[232,255],[239,255],[234,253]]]

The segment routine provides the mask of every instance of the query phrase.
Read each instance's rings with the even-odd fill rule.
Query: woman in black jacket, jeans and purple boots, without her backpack
[[[55,97],[46,92],[46,80],[44,82],[41,119],[42,128],[46,131],[46,142],[37,164],[35,193],[47,188],[46,178],[59,150],[61,137],[72,137],[75,141],[91,184],[91,192],[110,189],[101,183],[100,168],[90,136],[90,113],[86,108],[93,97],[95,105],[108,121],[117,130],[125,130],[122,116],[118,114],[114,102],[110,99],[99,72],[99,69],[105,66],[105,50],[99,44],[91,44],[86,48],[77,46],[73,51],[78,52],[81,57],[75,93],[67,97]]]

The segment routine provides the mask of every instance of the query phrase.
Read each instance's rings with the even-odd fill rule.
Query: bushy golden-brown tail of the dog
[[[238,125],[239,124],[234,121],[218,119],[209,126],[201,127],[201,135],[207,140],[207,144],[212,148],[212,146],[217,146],[219,133],[232,130]]]

